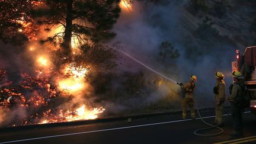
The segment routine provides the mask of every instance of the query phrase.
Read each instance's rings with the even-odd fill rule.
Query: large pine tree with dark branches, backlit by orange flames
[[[63,27],[52,37],[41,40],[60,44],[64,56],[71,56],[72,39],[79,43],[100,42],[114,37],[111,31],[119,18],[119,0],[43,0],[44,5],[34,11],[34,17],[50,31]],[[43,20],[42,20],[43,19]]]

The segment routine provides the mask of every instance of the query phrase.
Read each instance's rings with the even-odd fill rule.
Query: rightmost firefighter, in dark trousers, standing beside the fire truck
[[[243,107],[241,104],[240,97],[243,97],[244,87],[243,80],[244,76],[241,72],[235,71],[232,73],[233,76],[233,87],[231,95],[228,97],[228,100],[231,102],[231,114],[233,120],[233,133],[231,133],[232,137],[243,136],[242,133],[242,111]]]

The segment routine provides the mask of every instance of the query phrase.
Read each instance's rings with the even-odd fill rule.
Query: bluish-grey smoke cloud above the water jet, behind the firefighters
[[[184,83],[189,81],[190,75],[197,75],[199,81],[196,84],[196,97],[203,101],[203,103],[199,102],[201,107],[208,107],[209,104],[213,105],[214,100],[212,94],[212,88],[215,85],[214,73],[221,71],[226,75],[227,87],[232,82],[229,74],[234,48],[229,44],[219,44],[213,48],[199,46],[201,52],[206,54],[198,55],[192,60],[188,59],[185,56],[185,41],[188,38],[191,41],[198,41],[198,39],[193,37],[193,30],[186,27],[190,24],[190,21],[185,21],[187,19],[184,18],[187,17],[185,9],[187,4],[187,1],[171,1],[167,5],[156,5],[150,2],[148,5],[143,5],[141,2],[136,2],[132,12],[123,11],[121,14],[121,18],[114,27],[117,37],[113,43],[120,41],[126,53],[174,81]],[[155,59],[158,57],[159,44],[164,40],[171,41],[181,54],[176,60],[177,67],[162,64]],[[129,69],[139,69],[137,66],[139,64],[128,57],[123,57],[126,63],[134,65]],[[175,63],[175,61],[169,60],[169,63]],[[123,69],[127,70],[127,68]],[[178,87],[175,88],[177,91]],[[156,93],[159,95],[159,91]]]

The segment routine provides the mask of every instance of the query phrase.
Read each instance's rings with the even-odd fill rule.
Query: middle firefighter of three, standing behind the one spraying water
[[[213,93],[215,94],[215,121],[214,125],[218,124],[219,126],[223,126],[223,104],[225,101],[225,81],[224,75],[222,72],[216,72],[216,85],[213,88]]]

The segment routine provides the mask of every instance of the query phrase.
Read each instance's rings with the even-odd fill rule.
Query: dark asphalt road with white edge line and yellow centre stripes
[[[227,113],[227,111],[225,112]],[[212,111],[201,112],[204,120],[213,123]],[[256,116],[244,113],[244,139],[235,143],[256,143]],[[227,142],[232,132],[228,117],[219,136],[202,137],[194,130],[207,127],[199,118],[181,120],[181,113],[140,119],[114,120],[72,126],[35,127],[33,129],[1,130],[0,143],[217,143]],[[217,129],[203,133],[219,132]],[[230,141],[231,142],[231,141]]]

